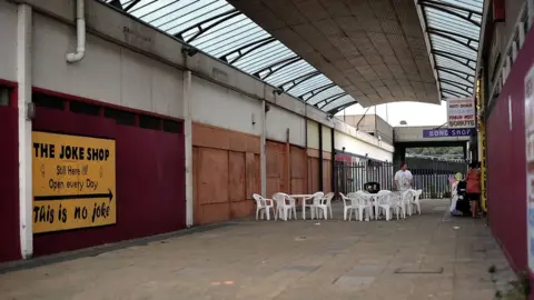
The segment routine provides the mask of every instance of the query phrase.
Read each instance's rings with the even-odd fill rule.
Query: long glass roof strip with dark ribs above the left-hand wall
[[[112,2],[100,1],[108,4]],[[130,16],[182,39],[214,58],[225,57],[229,64],[249,74],[257,74],[271,86],[280,87],[287,83],[284,89],[290,88],[288,93],[294,97],[333,84],[332,80],[318,73],[312,64],[299,59],[281,42],[273,39],[267,31],[238,12],[226,0],[120,0],[120,4]],[[297,84],[293,87],[294,83]],[[339,92],[343,92],[343,89],[336,86],[335,89],[317,94],[313,101],[317,102]],[[347,99],[336,99],[324,110],[333,110],[355,101],[353,98]]]

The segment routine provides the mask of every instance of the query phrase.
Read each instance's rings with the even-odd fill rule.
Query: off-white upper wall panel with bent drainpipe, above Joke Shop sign
[[[33,86],[117,106],[182,118],[182,72],[157,60],[87,36],[83,60],[72,27],[33,13]],[[1,30],[3,31],[3,30]]]

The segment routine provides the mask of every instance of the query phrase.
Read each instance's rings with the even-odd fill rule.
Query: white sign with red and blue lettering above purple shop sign
[[[448,128],[475,128],[475,100],[473,98],[447,100]]]

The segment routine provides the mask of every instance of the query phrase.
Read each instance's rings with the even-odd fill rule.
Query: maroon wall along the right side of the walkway
[[[524,79],[534,62],[533,53],[531,30],[487,121],[490,224],[515,271],[527,268]]]

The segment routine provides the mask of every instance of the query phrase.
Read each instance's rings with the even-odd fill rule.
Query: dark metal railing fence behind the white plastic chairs
[[[423,198],[448,198],[448,179],[455,173],[465,173],[467,164],[424,158],[406,158],[414,176],[414,188],[423,190]],[[395,190],[394,176],[400,163],[359,161],[335,162],[335,187],[337,192],[349,193],[363,190],[366,182],[378,182],[383,190]]]

